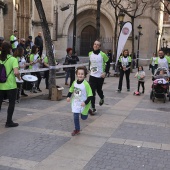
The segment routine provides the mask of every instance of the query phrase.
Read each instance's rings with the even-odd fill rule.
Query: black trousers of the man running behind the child
[[[103,83],[104,83],[104,78],[100,78],[100,77],[97,78],[97,77],[93,77],[93,76],[90,76],[90,78],[89,78],[89,84],[90,84],[90,87],[91,87],[92,93],[93,93],[93,97],[91,100],[92,108],[95,108],[96,91],[101,99],[104,98],[103,90],[102,90]]]

